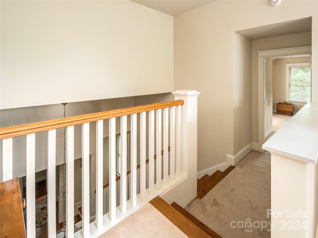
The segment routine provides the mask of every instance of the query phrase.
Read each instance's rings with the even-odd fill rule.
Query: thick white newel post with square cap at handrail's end
[[[183,100],[181,107],[181,172],[187,175],[187,203],[197,196],[197,131],[198,95],[195,90],[172,92],[175,100]]]

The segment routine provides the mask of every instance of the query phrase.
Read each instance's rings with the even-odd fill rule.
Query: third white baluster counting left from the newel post
[[[169,114],[168,108],[163,109],[163,183],[168,183],[169,172],[169,152],[168,152],[168,140],[169,140]]]

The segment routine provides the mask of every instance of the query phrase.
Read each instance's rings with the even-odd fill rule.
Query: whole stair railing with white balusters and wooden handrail
[[[178,92],[180,96],[181,91]],[[197,96],[198,93],[189,95],[189,91],[185,91],[184,96]],[[196,102],[196,101],[195,101]],[[187,102],[188,105],[189,104]],[[180,182],[188,178],[187,169],[189,167],[188,157],[186,156],[187,147],[182,146],[184,140],[181,134],[187,136],[187,130],[191,128],[191,135],[196,128],[192,128],[193,121],[188,126],[182,125],[182,115],[190,108],[183,108],[183,100],[177,100],[167,103],[158,103],[152,105],[132,107],[128,109],[119,109],[108,112],[94,113],[89,115],[81,115],[63,119],[54,119],[49,121],[36,122],[31,124],[0,128],[0,140],[2,141],[1,153],[1,175],[2,180],[12,179],[14,176],[13,140],[15,137],[26,137],[26,233],[28,238],[35,237],[35,155],[37,146],[35,137],[37,133],[47,133],[48,138],[48,171],[47,171],[47,190],[48,190],[48,237],[56,236],[56,217],[55,217],[55,197],[56,191],[56,129],[66,128],[66,231],[67,237],[98,237],[112,226],[123,220],[128,215],[139,209],[141,206],[149,202],[158,195],[162,195],[167,190],[178,185]],[[169,109],[170,108],[170,109]],[[193,106],[196,114],[196,104]],[[189,114],[189,113],[188,113]],[[148,127],[147,124],[148,115]],[[126,176],[126,152],[122,151],[122,164],[120,182],[116,181],[116,117],[121,119],[121,134],[123,140],[122,148],[127,143],[125,134],[127,134],[127,116],[130,116],[130,133],[131,133],[131,154],[130,164],[131,173]],[[138,118],[140,124],[138,126]],[[162,118],[162,119],[161,119]],[[188,120],[188,119],[187,119]],[[186,121],[187,121],[186,120]],[[90,221],[90,170],[89,170],[89,144],[92,139],[89,138],[89,126],[91,122],[96,124],[96,140],[94,151],[96,155],[96,209],[95,219]],[[109,127],[109,188],[103,191],[103,123],[108,122]],[[196,121],[195,121],[196,122]],[[81,145],[76,144],[75,125],[81,125],[82,141]],[[192,126],[192,127],[191,127]],[[183,129],[182,129],[183,128]],[[196,147],[195,141],[188,147]],[[189,139],[186,140],[189,143]],[[170,145],[170,152],[168,147]],[[75,150],[82,150],[82,229],[74,233],[74,160]],[[190,148],[191,149],[191,148]],[[196,149],[196,148],[195,148]],[[163,151],[161,160],[161,150]],[[156,157],[155,160],[155,151]],[[191,150],[194,151],[194,150]],[[159,156],[158,156],[159,155]],[[139,158],[137,157],[139,156]],[[146,163],[146,158],[149,164]],[[191,155],[193,164],[196,165],[196,156]],[[186,158],[184,160],[183,158]],[[137,162],[139,159],[140,171],[137,170]],[[147,165],[147,166],[146,166]],[[189,169],[195,170],[196,166]],[[190,173],[190,174],[191,174]],[[192,176],[193,177],[193,176]],[[192,180],[195,180],[196,177]],[[128,183],[127,183],[128,182]],[[195,182],[191,181],[191,184]],[[116,191],[116,183],[119,183]],[[128,189],[129,188],[129,189]],[[191,185],[195,190],[196,186]],[[119,190],[119,192],[118,192]],[[189,193],[189,192],[188,192]],[[193,191],[194,193],[194,191]],[[129,194],[129,195],[128,195]],[[108,197],[103,201],[103,196]],[[194,197],[187,197],[191,201]],[[116,201],[119,201],[120,207],[116,207]],[[106,204],[106,207],[105,207]],[[118,204],[118,202],[117,202]],[[104,208],[103,208],[104,207]],[[109,212],[107,211],[109,209]],[[103,214],[103,211],[107,211]]]

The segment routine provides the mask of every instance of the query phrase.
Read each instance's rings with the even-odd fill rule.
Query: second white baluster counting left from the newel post
[[[170,108],[170,179],[175,175],[175,107]]]

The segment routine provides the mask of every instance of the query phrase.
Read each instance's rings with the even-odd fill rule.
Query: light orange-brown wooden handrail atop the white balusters
[[[132,115],[141,112],[148,112],[152,110],[168,108],[173,106],[183,105],[183,100],[165,102],[165,103],[155,103],[143,106],[136,106],[131,108],[125,109],[115,109],[106,112],[99,112],[99,113],[91,113],[86,115],[62,118],[62,119],[53,119],[53,120],[46,120],[10,127],[0,128],[0,140],[27,135],[31,133],[37,133],[42,131],[47,131],[51,129],[58,129],[63,128],[71,125],[78,125],[87,122],[103,120],[103,119],[110,119],[116,117],[122,117],[127,115]]]

